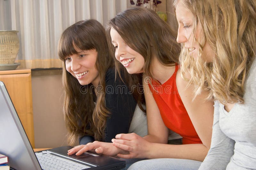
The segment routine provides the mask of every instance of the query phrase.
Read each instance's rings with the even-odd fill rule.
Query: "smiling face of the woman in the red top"
[[[145,64],[143,56],[129,47],[115,29],[111,28],[110,36],[116,49],[116,60],[123,64],[129,74],[142,73]]]

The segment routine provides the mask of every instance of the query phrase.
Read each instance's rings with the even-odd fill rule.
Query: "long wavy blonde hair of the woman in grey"
[[[198,41],[191,37],[200,46],[196,59],[182,49],[182,76],[190,74],[187,80],[195,85],[195,95],[209,90],[208,99],[217,99],[222,104],[244,103],[244,85],[255,58],[256,1],[173,0],[174,8],[179,3],[195,18],[193,32],[200,23],[204,33],[204,38]],[[201,56],[205,41],[214,52],[210,63]]]

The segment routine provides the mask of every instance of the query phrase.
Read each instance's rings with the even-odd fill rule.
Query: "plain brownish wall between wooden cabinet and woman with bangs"
[[[61,75],[36,75],[32,71],[32,98],[36,148],[67,145],[62,114]]]

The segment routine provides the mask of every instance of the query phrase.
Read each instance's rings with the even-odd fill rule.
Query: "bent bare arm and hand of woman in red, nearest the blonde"
[[[186,88],[187,82],[181,79],[178,74],[176,83],[177,87],[179,87],[178,91],[182,102],[203,144],[165,145],[150,143],[152,141],[148,142],[149,140],[146,141],[146,138],[143,139],[134,134],[119,134],[116,136],[117,139],[113,140],[113,145],[129,151],[130,154],[118,154],[117,156],[121,158],[179,158],[199,161],[204,160],[211,144],[213,103],[205,101],[207,92],[202,92],[202,94],[196,96],[195,100],[192,102],[194,94],[191,92],[193,89],[190,86]],[[146,104],[148,105],[147,100]],[[161,130],[154,132],[160,133]]]

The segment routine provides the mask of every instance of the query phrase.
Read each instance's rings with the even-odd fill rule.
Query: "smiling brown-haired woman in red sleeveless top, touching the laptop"
[[[111,19],[107,32],[115,51],[116,68],[144,75],[148,135],[141,138],[134,133],[118,134],[113,144],[94,142],[68,154],[96,149],[98,153],[117,154],[125,159],[203,161],[210,148],[213,102],[205,100],[207,91],[193,100],[192,87],[186,88],[188,83],[181,79],[177,64],[180,46],[170,26],[155,11],[132,8]],[[167,145],[168,128],[183,137],[182,145]]]

